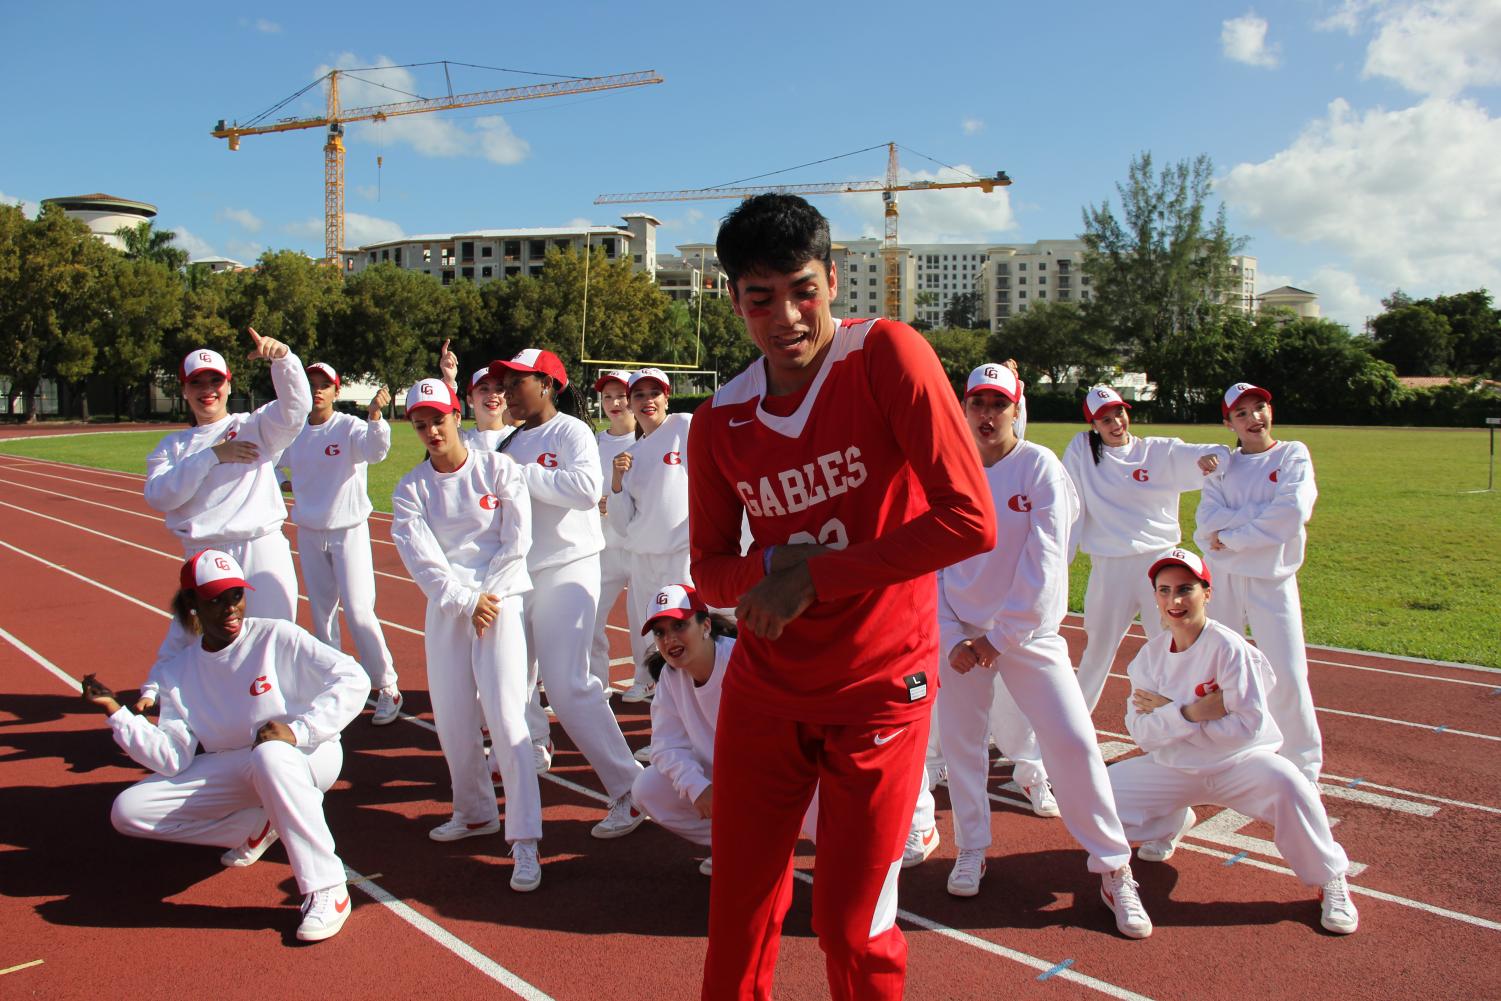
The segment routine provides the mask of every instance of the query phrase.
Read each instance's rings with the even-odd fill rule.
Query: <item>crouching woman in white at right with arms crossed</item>
[[[1214,803],[1273,825],[1277,851],[1306,885],[1321,887],[1325,929],[1360,923],[1345,873],[1349,860],[1330,833],[1318,789],[1277,753],[1282,734],[1268,690],[1282,684],[1246,638],[1207,615],[1217,596],[1210,569],[1172,549],[1148,570],[1168,632],[1127,668],[1126,729],[1147,753],[1109,767],[1136,855],[1166,861],[1193,822],[1195,803]]]

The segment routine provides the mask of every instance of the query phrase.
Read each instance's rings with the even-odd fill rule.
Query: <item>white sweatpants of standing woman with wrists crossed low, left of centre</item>
[[[521,609],[519,594],[503,599],[483,636],[476,635],[471,620],[443,614],[431,602],[423,623],[428,696],[453,786],[453,818],[489,824],[500,816],[480,738],[480,725],[486,725],[506,791],[506,840],[512,842],[542,837],[542,792],[527,732],[527,641]]]

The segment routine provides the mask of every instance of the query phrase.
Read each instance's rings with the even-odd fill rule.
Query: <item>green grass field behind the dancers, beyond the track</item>
[[[392,455],[371,468],[369,492],[390,510],[396,480],[420,458],[416,437],[395,428]],[[1079,425],[1028,428],[1061,453]],[[1220,441],[1207,425],[1138,426],[1187,441]],[[1319,485],[1298,575],[1307,639],[1313,644],[1459,660],[1501,668],[1501,492],[1484,488],[1484,431],[1406,428],[1279,428],[1307,443]],[[144,473],[165,434],[125,432],[0,443],[0,452]],[[1184,539],[1193,534],[1198,495],[1184,495]],[[1070,573],[1070,606],[1084,603],[1088,558]]]

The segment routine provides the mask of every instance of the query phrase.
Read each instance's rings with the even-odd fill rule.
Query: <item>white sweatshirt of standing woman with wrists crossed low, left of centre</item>
[[[401,477],[390,504],[390,540],[444,615],[468,618],[482,593],[531,590],[531,501],[510,456],[470,449],[452,473],[419,462]]]

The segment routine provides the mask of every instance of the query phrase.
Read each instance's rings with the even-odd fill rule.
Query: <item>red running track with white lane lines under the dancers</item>
[[[216,851],[113,831],[110,801],[141,773],[57,677],[98,672],[128,689],[161,639],[180,552],[141,498],[141,477],[0,456],[0,996],[696,996],[701,854],[650,824],[621,840],[590,839],[603,797],[561,728],[543,782],[537,893],[506,887],[500,837],[426,837],[447,816],[446,771],[426,704],[422,597],[387,527],[377,516],[380,614],[416,719],[383,729],[360,719],[345,731],[327,809],[341,855],[369,879],[356,884],[363,893],[345,930],[303,947],[291,935],[297,894],[281,849],[225,870]],[[1076,620],[1066,635],[1078,657]],[[624,657],[624,630],[612,636]],[[1117,671],[1138,644],[1124,644]],[[953,848],[943,789],[944,843],[902,875],[908,996],[1501,996],[1492,960],[1501,905],[1486,879],[1501,861],[1501,674],[1330,650],[1310,657],[1325,804],[1361,866],[1357,935],[1318,927],[1312,891],[1261,824],[1201,810],[1171,861],[1135,866],[1156,933],[1118,938],[1084,852],[1061,822],[1024,809],[1001,761],[980,896],[944,891]],[[627,671],[618,666],[617,680]],[[1108,758],[1132,753],[1124,695],[1124,680],[1112,678],[1096,714]],[[644,707],[615,711],[632,746],[647,743]],[[784,932],[779,998],[826,996],[808,903],[803,884]]]

